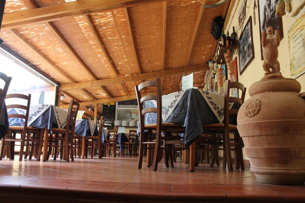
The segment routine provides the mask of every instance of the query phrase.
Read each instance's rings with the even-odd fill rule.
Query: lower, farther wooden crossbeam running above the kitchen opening
[[[204,86],[199,86],[198,89],[203,89]],[[181,89],[171,89],[171,90],[166,90],[162,91],[162,94],[167,94],[167,93],[173,93],[173,92],[178,92]],[[156,92],[150,92],[150,93],[144,93],[142,96],[145,95],[152,95],[156,94]],[[134,100],[137,99],[136,95],[130,95],[130,96],[120,96],[120,97],[113,97],[113,98],[108,98],[108,99],[102,99],[102,100],[92,100],[92,101],[86,101],[86,102],[81,102],[81,106],[88,106],[91,104],[99,104],[99,103],[110,103],[110,102],[119,102],[119,101],[127,101],[127,100]],[[69,107],[69,104],[66,105],[60,105],[60,108],[67,108]]]

